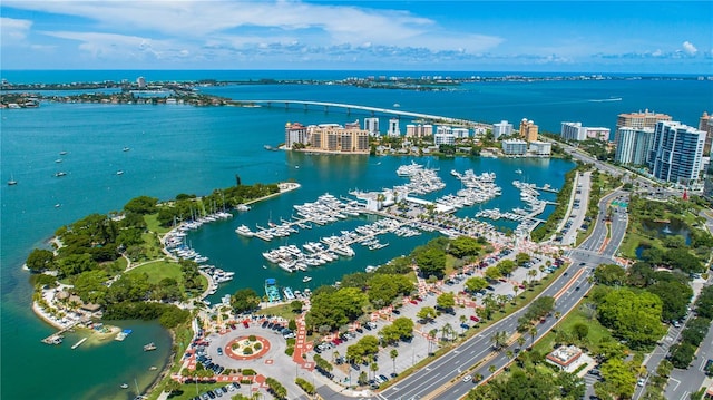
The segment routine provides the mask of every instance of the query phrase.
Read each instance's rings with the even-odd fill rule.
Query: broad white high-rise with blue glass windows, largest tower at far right
[[[705,131],[660,120],[654,129],[649,168],[654,177],[685,186],[699,181],[703,167]]]

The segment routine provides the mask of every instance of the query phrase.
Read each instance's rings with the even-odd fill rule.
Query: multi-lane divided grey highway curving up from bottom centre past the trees
[[[624,195],[623,192],[612,193],[599,202],[599,214],[604,215],[608,203]],[[602,263],[612,263],[612,255],[616,253],[626,231],[627,217],[623,213],[621,217],[612,219],[612,232],[614,235],[606,241],[607,228],[603,218],[597,218],[593,234],[583,244],[569,252],[572,264],[567,267],[553,284],[547,287],[541,295],[557,299],[554,312],[559,311],[565,315],[573,310],[582,297],[589,291],[592,283],[588,277],[595,266]],[[575,227],[573,227],[575,228]],[[381,399],[457,399],[466,396],[473,388],[472,382],[463,382],[461,378],[475,364],[478,368],[469,371],[469,374],[479,373],[484,379],[488,379],[492,373],[490,365],[495,365],[496,373],[500,371],[510,360],[507,358],[508,350],[516,353],[519,351],[515,340],[512,344],[494,352],[491,336],[495,332],[506,331],[510,338],[516,333],[517,320],[525,313],[520,310],[498,323],[484,330],[476,336],[467,340],[458,348],[431,362],[421,370],[414,372],[401,382],[379,393]],[[545,335],[556,324],[554,318],[548,318],[544,323],[537,325],[538,333],[535,340]],[[530,344],[529,335],[526,345]],[[482,362],[486,360],[485,362]]]

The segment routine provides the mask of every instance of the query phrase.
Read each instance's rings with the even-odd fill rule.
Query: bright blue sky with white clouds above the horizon
[[[1,69],[713,75],[712,1],[2,0]]]

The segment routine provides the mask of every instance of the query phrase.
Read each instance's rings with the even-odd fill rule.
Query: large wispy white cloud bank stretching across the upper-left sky
[[[426,47],[432,51],[478,52],[497,47],[496,36],[453,32],[429,18],[402,10],[300,1],[20,1],[6,6],[95,21],[91,30],[173,38],[198,43],[296,41],[305,46]]]

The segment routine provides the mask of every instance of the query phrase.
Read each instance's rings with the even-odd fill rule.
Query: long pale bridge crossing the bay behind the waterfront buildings
[[[462,118],[452,118],[452,117],[446,117],[446,116],[433,115],[433,114],[411,113],[411,111],[404,111],[400,109],[360,106],[360,105],[344,104],[344,103],[310,101],[310,100],[234,100],[233,103],[236,105],[264,104],[264,105],[267,105],[267,107],[272,107],[273,104],[284,104],[285,108],[290,108],[291,104],[295,104],[295,105],[303,105],[305,109],[307,109],[309,106],[319,106],[319,107],[324,107],[325,111],[329,111],[330,107],[334,107],[334,108],[344,108],[346,109],[348,114],[351,113],[352,109],[358,109],[362,111],[371,111],[372,115],[374,115],[375,113],[381,113],[381,114],[388,114],[388,115],[395,115],[398,117],[413,117],[413,118],[420,118],[420,119],[430,120],[430,121],[439,121],[443,124],[482,127],[487,129],[492,128],[492,125],[477,123],[477,121],[467,120]]]

